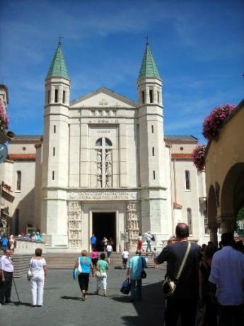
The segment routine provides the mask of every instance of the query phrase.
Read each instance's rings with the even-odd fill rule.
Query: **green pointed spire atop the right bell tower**
[[[158,73],[156,63],[153,60],[153,55],[151,54],[148,42],[146,42],[146,50],[144,52],[144,57],[141,62],[141,69],[139,72],[138,80],[146,77],[161,79],[160,74]]]

